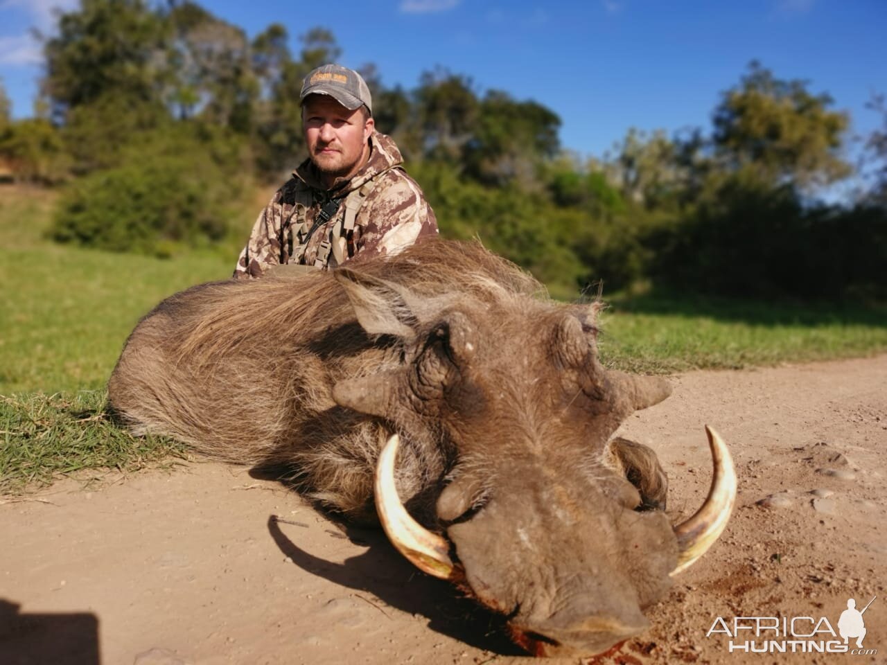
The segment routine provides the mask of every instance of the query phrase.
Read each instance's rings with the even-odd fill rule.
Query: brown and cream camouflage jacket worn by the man
[[[261,277],[281,263],[335,266],[357,255],[395,253],[435,236],[434,211],[400,166],[403,158],[394,141],[373,132],[370,146],[364,168],[331,190],[320,184],[311,161],[303,161],[255,221],[234,277]],[[333,197],[341,198],[338,210],[311,232]]]

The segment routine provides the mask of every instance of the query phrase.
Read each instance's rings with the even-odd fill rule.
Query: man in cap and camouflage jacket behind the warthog
[[[261,277],[284,263],[326,269],[436,236],[434,212],[404,172],[400,151],[375,130],[360,74],[318,67],[301,99],[308,159],[259,215],[234,277]]]

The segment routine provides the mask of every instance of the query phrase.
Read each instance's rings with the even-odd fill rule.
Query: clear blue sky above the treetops
[[[52,7],[78,0],[0,0],[0,77],[13,113],[31,112],[40,75],[29,29],[52,30]],[[710,128],[722,90],[751,59],[801,78],[849,111],[852,129],[877,122],[865,109],[887,93],[885,0],[303,0],[200,3],[255,35],[268,24],[297,35],[324,26],[341,63],[375,63],[387,85],[412,88],[436,66],[469,75],[478,90],[532,98],[561,117],[561,142],[600,155],[630,127]]]

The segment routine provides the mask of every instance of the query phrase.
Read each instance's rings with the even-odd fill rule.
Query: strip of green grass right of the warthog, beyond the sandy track
[[[643,373],[740,369],[887,351],[887,308],[646,296],[602,317],[608,366]]]

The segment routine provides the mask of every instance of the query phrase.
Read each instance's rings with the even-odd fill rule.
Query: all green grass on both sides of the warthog
[[[127,335],[170,293],[227,278],[228,254],[157,259],[45,239],[55,192],[0,185],[0,492],[80,468],[135,468],[179,454],[108,423],[104,386]],[[251,219],[237,221],[244,236]],[[445,232],[445,223],[444,223]],[[605,294],[606,296],[606,294]],[[633,372],[738,368],[887,351],[887,309],[614,299],[601,356]]]

